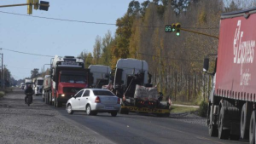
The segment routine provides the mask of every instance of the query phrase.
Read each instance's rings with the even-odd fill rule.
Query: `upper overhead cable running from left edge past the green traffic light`
[[[5,12],[5,11],[0,11],[0,13],[3,13],[3,14],[15,14],[15,15],[20,15],[20,16],[27,16],[27,17],[33,17],[33,18],[39,18],[39,19],[47,19],[47,20],[61,20],[61,21],[79,22],[79,23],[86,23],[86,24],[116,26],[116,24],[114,24],[114,23],[106,23],[106,22],[58,19],[58,18],[49,18],[49,17],[44,17],[44,16],[35,16],[35,15],[27,15],[27,14],[10,13],[10,12]],[[129,26],[129,25],[119,25],[119,26]],[[136,26],[136,27],[153,27],[153,28],[156,28],[156,27],[163,28],[164,27],[164,26],[143,26],[143,25],[133,25],[133,26]],[[183,27],[183,28],[191,28],[191,29],[218,29],[218,27]]]

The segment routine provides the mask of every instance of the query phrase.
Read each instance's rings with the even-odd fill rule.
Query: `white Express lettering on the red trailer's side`
[[[243,41],[244,32],[241,32],[241,20],[237,21],[237,28],[234,37],[234,63],[241,64],[240,85],[249,85],[251,79],[250,69],[243,69],[243,64],[252,64],[254,57],[255,40]]]

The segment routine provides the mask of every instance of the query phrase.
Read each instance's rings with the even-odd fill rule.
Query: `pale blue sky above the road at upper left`
[[[49,0],[49,11],[32,10],[32,16],[115,24],[131,0]],[[140,0],[139,2],[143,2]],[[0,5],[26,3],[26,0],[1,0]],[[38,55],[73,55],[92,52],[97,35],[103,37],[114,25],[48,20],[26,14],[26,6],[0,8],[0,53],[15,79],[31,76],[31,70],[49,64],[50,58]],[[6,14],[15,13],[15,14]],[[15,53],[16,50],[38,55]],[[45,66],[46,68],[47,66]]]

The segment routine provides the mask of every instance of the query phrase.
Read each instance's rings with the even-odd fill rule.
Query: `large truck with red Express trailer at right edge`
[[[220,139],[249,139],[255,143],[256,124],[256,8],[221,15],[218,55],[212,74],[207,125]],[[209,70],[210,71],[210,70]]]

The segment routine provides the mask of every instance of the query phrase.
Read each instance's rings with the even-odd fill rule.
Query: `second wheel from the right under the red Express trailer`
[[[247,103],[243,104],[241,108],[241,120],[240,120],[240,130],[241,139],[249,138],[249,124],[250,124],[250,113],[252,108],[247,106]]]

